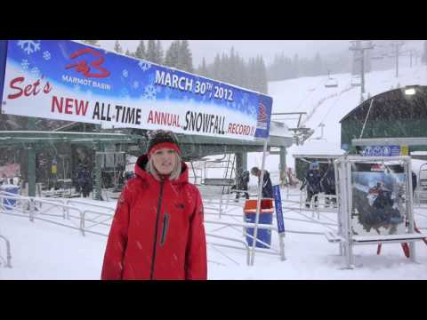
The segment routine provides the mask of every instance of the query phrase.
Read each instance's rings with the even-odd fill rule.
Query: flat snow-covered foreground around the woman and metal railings
[[[215,197],[214,190],[203,190],[205,206],[215,207],[209,198]],[[291,189],[289,200],[299,199],[298,189]],[[282,190],[282,199],[286,191]],[[234,203],[231,203],[234,205]],[[109,202],[110,207],[115,202]],[[254,267],[246,265],[246,251],[224,248],[211,244],[229,244],[211,236],[208,244],[209,279],[427,279],[427,245],[415,244],[417,263],[408,260],[399,244],[384,244],[381,255],[376,255],[376,245],[356,246],[356,268],[342,269],[343,257],[338,255],[338,245],[330,244],[323,235],[296,234],[293,231],[320,232],[326,227],[300,220],[314,220],[334,223],[336,214],[324,212],[318,220],[310,212],[298,211],[298,205],[284,202],[284,206],[294,206],[295,210],[284,210],[285,226],[288,233],[285,237],[286,260],[281,261],[278,255],[257,252]],[[79,205],[81,208],[87,205]],[[216,205],[216,207],[218,207]],[[418,227],[427,228],[427,208],[417,214]],[[60,210],[57,211],[59,215]],[[218,218],[212,209],[205,210],[207,221],[242,221],[242,203],[228,207],[227,214],[233,217]],[[54,211],[50,211],[54,213]],[[45,219],[64,222],[63,218]],[[299,220],[292,220],[299,219]],[[72,220],[72,219],[71,219]],[[275,220],[273,220],[274,222]],[[67,223],[67,222],[65,222]],[[70,225],[78,226],[77,220]],[[334,228],[334,227],[330,227]],[[206,233],[216,236],[231,236],[245,241],[242,228],[205,224]],[[98,228],[97,231],[108,233],[109,228]],[[86,233],[82,236],[77,229],[65,228],[43,220],[30,222],[28,218],[0,214],[0,234],[6,236],[12,246],[12,268],[0,267],[0,279],[99,279],[106,236]],[[272,245],[278,249],[278,235],[273,233]],[[242,245],[240,247],[243,248]],[[0,255],[5,257],[4,245],[0,243]]]

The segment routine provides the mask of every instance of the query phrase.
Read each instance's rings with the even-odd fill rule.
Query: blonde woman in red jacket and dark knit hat
[[[207,277],[203,204],[172,132],[151,135],[117,202],[102,280]]]

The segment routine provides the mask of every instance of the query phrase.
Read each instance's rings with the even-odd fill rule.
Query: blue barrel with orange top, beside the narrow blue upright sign
[[[248,223],[255,223],[256,212],[254,212],[254,207],[256,208],[256,200],[246,200],[245,205],[245,220]],[[272,209],[272,199],[262,199],[261,210],[260,210],[260,219],[259,223],[261,224],[272,224],[273,223],[273,212]],[[246,234],[254,237],[254,228],[246,228]],[[246,236],[246,242],[249,246],[253,246],[254,239],[253,237]],[[256,232],[256,238],[261,240],[265,244],[271,244],[271,230],[258,228]],[[257,248],[269,248],[267,245],[256,242],[255,247]]]

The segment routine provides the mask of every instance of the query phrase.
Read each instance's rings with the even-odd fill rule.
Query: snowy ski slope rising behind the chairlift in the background
[[[402,63],[402,65],[404,65]],[[315,132],[302,146],[286,149],[286,164],[294,167],[297,154],[343,154],[341,149],[341,124],[339,121],[360,103],[360,87],[352,87],[350,74],[331,75],[338,81],[338,87],[326,88],[327,76],[312,76],[269,83],[269,94],[273,97],[272,113],[307,112],[302,124]],[[427,84],[427,67],[400,67],[399,77],[395,70],[373,71],[366,75],[366,96],[411,84]],[[274,119],[274,117],[273,117]],[[286,121],[290,127],[296,127],[296,121]],[[319,124],[325,124],[323,140]],[[248,166],[260,165],[262,154],[248,156]],[[266,164],[270,172],[278,171],[278,156],[268,156]]]

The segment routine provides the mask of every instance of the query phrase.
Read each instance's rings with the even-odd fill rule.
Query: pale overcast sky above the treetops
[[[173,40],[162,40],[164,52]],[[116,40],[101,40],[101,46],[113,49]],[[120,45],[134,52],[139,40],[119,40]],[[146,44],[147,45],[147,44]],[[231,47],[240,56],[247,59],[262,54],[266,63],[274,59],[278,52],[285,52],[287,56],[298,54],[300,57],[312,58],[316,52],[322,56],[334,54],[349,49],[349,40],[189,40],[193,53],[193,65],[198,67],[203,57],[206,63],[214,61],[216,53],[230,52]]]

